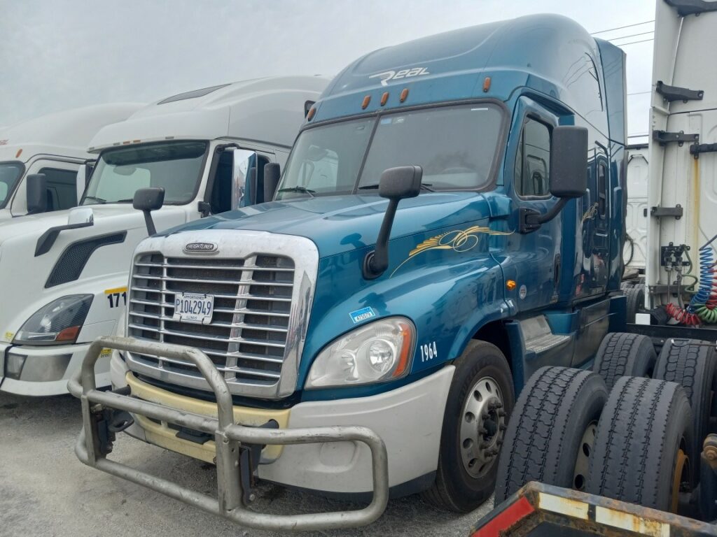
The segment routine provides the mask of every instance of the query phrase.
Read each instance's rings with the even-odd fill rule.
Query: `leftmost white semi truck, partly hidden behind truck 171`
[[[85,190],[77,170],[95,158],[87,151],[90,140],[142,106],[121,102],[76,108],[0,130],[0,222],[75,207]]]

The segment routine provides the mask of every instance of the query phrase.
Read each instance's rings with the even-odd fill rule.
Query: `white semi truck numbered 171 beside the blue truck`
[[[149,228],[261,202],[264,165],[285,163],[326,83],[277,77],[199,89],[100,130],[79,207],[0,226],[0,281],[12,282],[0,290],[0,391],[67,392],[90,342],[115,332],[129,261]],[[133,198],[156,187],[163,206],[146,220]],[[98,385],[110,383],[109,354],[95,372]]]

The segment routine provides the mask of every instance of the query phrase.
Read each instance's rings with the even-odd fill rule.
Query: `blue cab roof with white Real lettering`
[[[556,52],[558,52],[556,54]],[[622,61],[614,45],[594,39],[564,16],[522,16],[452,30],[379,49],[338,74],[316,105],[313,122],[378,110],[467,98],[507,101],[526,87],[579,113],[608,133],[604,110],[614,114],[614,135],[624,142],[622,69],[600,80],[600,62]],[[603,64],[603,67],[607,67]],[[610,72],[610,69],[604,69]],[[485,82],[486,77],[490,81]],[[440,81],[440,82],[439,82]],[[613,86],[619,85],[619,91]],[[404,100],[399,98],[408,89]],[[381,105],[384,92],[389,93]],[[369,105],[362,108],[364,97]],[[605,98],[607,96],[607,99]]]

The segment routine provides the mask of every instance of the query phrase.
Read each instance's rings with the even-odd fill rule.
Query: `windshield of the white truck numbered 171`
[[[100,155],[82,205],[131,203],[139,188],[164,188],[164,203],[194,199],[207,142],[166,142],[108,150]]]

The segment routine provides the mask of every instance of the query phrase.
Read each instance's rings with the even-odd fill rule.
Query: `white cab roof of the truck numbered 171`
[[[287,114],[300,122],[306,92],[320,92],[327,82],[319,76],[267,77],[166,97],[137,110],[123,124],[100,130],[90,151],[163,140],[232,138],[236,132],[244,140],[291,147],[295,132],[285,127]]]

